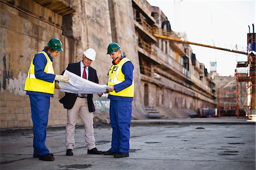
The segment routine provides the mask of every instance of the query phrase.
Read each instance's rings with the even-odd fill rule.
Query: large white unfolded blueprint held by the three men
[[[74,73],[65,70],[63,76],[68,76],[68,82],[60,82],[60,91],[75,94],[100,94],[106,92],[107,85],[96,84]]]

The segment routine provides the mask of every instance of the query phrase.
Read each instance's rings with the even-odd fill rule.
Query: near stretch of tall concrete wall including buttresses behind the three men
[[[91,66],[97,70],[100,84],[106,84],[112,62],[110,56],[106,55],[107,47],[110,43],[117,42],[122,47],[123,55],[133,62],[135,88],[140,87],[131,1],[55,2],[69,5],[75,13],[62,16],[44,7],[40,1],[42,4],[31,0],[0,2],[1,128],[32,126],[30,101],[23,90],[24,82],[32,57],[42,51],[52,37],[61,39],[64,45],[64,52],[53,61],[56,74],[60,74],[68,63],[80,61],[82,52],[90,47],[97,53],[96,61]],[[51,98],[49,126],[63,126],[66,123],[66,110],[59,103],[63,96],[63,92],[55,90],[55,95]],[[134,117],[143,117],[141,96],[141,91],[136,90]],[[108,122],[108,99],[97,96],[94,98],[96,121]],[[77,123],[81,123],[81,119]]]

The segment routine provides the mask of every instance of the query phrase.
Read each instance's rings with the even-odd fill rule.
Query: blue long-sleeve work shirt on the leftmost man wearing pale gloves
[[[47,55],[49,56],[49,59],[51,59],[51,61],[53,61],[51,55],[47,51],[45,51],[45,50],[43,50],[43,51],[46,52]],[[33,64],[35,65],[35,77],[36,78],[38,78],[40,80],[48,81],[48,82],[54,81],[54,78],[56,76],[55,74],[49,74],[49,73],[44,72],[44,68],[46,67],[46,64],[47,64],[47,59],[43,55],[43,53],[39,53],[34,57]],[[27,91],[26,94],[53,97],[53,94],[42,93],[42,92]]]

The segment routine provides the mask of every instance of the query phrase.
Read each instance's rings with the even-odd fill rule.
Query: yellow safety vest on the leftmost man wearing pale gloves
[[[39,53],[43,53],[43,55],[47,59],[46,67],[44,68],[44,72],[54,74],[53,67],[52,67],[52,61],[49,59],[46,52],[42,51]],[[34,57],[33,57],[34,59]],[[42,92],[42,93],[49,93],[54,94],[55,89],[55,81],[48,82],[44,80],[40,80],[35,77],[35,65],[33,64],[33,59],[30,64],[30,69],[28,69],[27,78],[25,82],[25,88],[26,91],[32,91],[32,92]]]

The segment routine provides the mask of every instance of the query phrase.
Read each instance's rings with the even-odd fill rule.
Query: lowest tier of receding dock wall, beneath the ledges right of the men
[[[162,80],[167,81],[167,80]],[[159,84],[142,81],[142,92],[144,92],[144,84],[148,85],[150,93],[148,95],[148,106],[156,107],[160,114],[166,118],[184,118],[188,117],[185,110],[194,110],[202,108],[215,108],[215,103],[207,100],[207,97],[197,93],[189,88],[180,86],[179,84],[168,81],[170,86],[164,87]],[[174,86],[175,88],[171,88]]]

